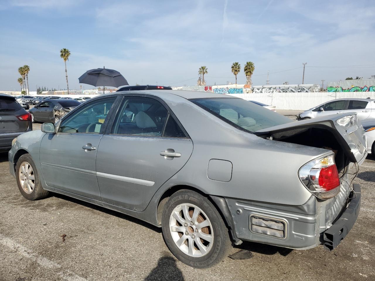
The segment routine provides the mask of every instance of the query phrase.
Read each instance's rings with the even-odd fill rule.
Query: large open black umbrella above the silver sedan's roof
[[[103,86],[103,93],[104,86],[118,87],[129,85],[120,72],[105,67],[87,70],[78,80],[80,83],[95,87]]]

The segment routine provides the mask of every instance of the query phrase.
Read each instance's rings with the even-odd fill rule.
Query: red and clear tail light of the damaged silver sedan
[[[333,153],[305,164],[299,176],[308,190],[320,199],[332,198],[340,192],[339,172]]]

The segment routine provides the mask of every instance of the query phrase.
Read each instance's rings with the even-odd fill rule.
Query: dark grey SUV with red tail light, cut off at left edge
[[[8,151],[14,138],[31,130],[31,114],[14,97],[0,93],[0,152]]]

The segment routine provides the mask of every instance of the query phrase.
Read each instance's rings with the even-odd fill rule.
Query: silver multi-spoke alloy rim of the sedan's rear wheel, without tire
[[[186,203],[174,208],[169,230],[177,247],[188,256],[201,257],[212,248],[213,227],[198,206]]]

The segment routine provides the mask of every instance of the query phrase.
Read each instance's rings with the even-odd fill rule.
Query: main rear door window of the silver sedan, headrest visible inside
[[[130,97],[123,102],[111,133],[161,136],[168,111],[157,100]]]

